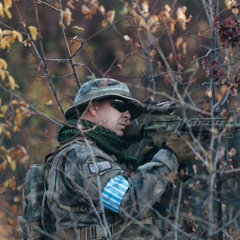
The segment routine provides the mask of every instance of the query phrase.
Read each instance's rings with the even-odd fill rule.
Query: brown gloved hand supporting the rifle
[[[170,148],[177,156],[179,163],[187,163],[194,159],[195,154],[190,148],[192,138],[189,135],[178,136],[174,131],[166,142],[166,146]]]

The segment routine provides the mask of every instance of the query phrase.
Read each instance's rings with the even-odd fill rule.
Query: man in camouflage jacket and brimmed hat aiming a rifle
[[[58,132],[61,147],[49,162],[46,195],[56,219],[54,239],[135,238],[131,225],[141,226],[146,212],[172,189],[168,175],[193,156],[188,136],[172,134],[165,149],[133,175],[124,167],[134,159],[122,137],[142,112],[143,105],[117,80],[82,85]],[[159,233],[142,228],[145,239],[159,239]]]

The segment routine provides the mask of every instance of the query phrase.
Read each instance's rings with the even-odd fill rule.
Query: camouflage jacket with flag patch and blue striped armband
[[[161,149],[130,176],[117,159],[93,143],[80,140],[70,144],[57,153],[48,170],[46,194],[57,229],[141,219],[172,189],[167,175],[177,173],[178,166],[176,156]],[[109,189],[115,192],[111,195]]]

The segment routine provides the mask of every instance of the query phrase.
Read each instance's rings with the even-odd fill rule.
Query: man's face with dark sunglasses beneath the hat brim
[[[107,99],[97,102],[96,107],[96,123],[122,137],[131,120],[126,102],[118,99]]]

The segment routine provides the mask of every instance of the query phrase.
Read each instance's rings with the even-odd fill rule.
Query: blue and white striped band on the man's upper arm
[[[129,182],[123,176],[112,178],[102,193],[103,206],[115,213],[119,212],[122,199],[129,188]]]

